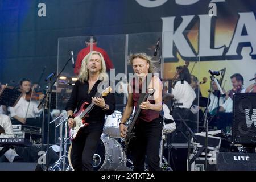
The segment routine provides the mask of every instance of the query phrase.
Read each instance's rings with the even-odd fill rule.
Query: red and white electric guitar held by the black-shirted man
[[[111,92],[111,90],[112,89],[109,86],[108,88],[104,89],[103,92],[98,97],[101,98],[103,96],[107,96]],[[88,123],[86,123],[86,117],[88,117],[88,114],[90,113],[90,111],[93,109],[94,106],[95,104],[93,102],[90,105],[88,102],[84,102],[80,107],[80,110],[77,111],[77,113],[73,114],[75,123],[73,127],[69,129],[69,137],[71,140],[74,140],[77,137],[77,135],[79,135],[81,131],[80,129],[82,127],[89,125]]]

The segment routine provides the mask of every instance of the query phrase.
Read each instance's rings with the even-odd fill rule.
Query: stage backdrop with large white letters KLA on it
[[[162,32],[164,78],[189,61],[199,81],[226,68],[226,90],[233,73],[248,85],[256,72],[255,7],[254,0],[3,0],[0,81],[43,82],[57,69],[60,37]],[[204,96],[208,88],[209,81],[201,85]]]

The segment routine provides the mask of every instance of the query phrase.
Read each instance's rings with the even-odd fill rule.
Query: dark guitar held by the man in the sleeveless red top
[[[144,94],[144,96],[142,96],[143,99],[141,102],[138,102],[138,103],[141,104],[142,102],[145,102],[149,96],[154,94],[154,92],[155,92],[155,89],[148,89],[148,92],[146,94],[142,93],[142,94]],[[135,115],[133,117],[133,120],[131,121],[131,123],[127,129],[127,133],[126,133],[126,137],[125,137],[125,148],[123,148],[123,151],[125,151],[125,152],[127,152],[127,150],[128,150],[130,140],[135,137],[135,132],[134,132],[135,122],[136,122],[137,118],[139,117],[140,113],[141,113],[141,108],[138,105],[137,109],[135,110]]]

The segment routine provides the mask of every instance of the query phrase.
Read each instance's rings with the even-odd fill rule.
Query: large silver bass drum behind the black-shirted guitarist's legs
[[[71,168],[71,150],[72,144],[68,150],[68,162]],[[108,135],[102,134],[100,144],[97,147],[96,153],[93,155],[93,170],[94,171],[115,171],[119,166],[122,166],[123,153],[121,144],[108,137]]]

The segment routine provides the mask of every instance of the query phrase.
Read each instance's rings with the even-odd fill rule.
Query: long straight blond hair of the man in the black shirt
[[[109,76],[106,73],[106,64],[105,64],[104,57],[100,52],[97,52],[97,51],[89,52],[88,55],[86,55],[82,60],[81,68],[79,71],[79,81],[81,81],[82,83],[84,83],[85,81],[88,81],[89,71],[86,63],[88,60],[90,60],[92,55],[99,55],[101,57],[101,70],[100,70],[100,75],[98,76],[98,80],[108,81]]]

